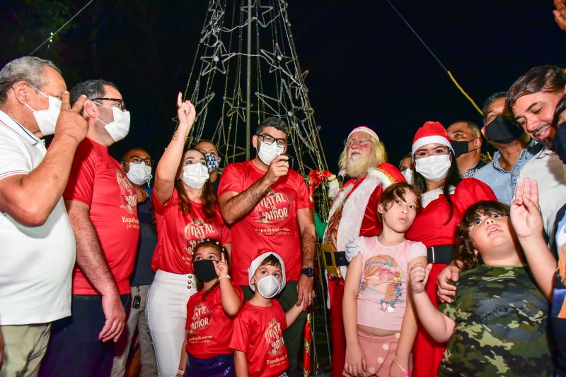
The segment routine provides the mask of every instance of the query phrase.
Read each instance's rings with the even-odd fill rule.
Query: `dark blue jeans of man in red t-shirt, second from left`
[[[122,294],[120,299],[128,312],[129,294]],[[114,342],[98,340],[105,322],[102,297],[74,294],[71,313],[70,317],[52,323],[51,339],[39,376],[110,376]]]

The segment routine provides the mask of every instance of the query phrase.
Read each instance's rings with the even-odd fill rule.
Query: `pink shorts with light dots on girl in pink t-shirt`
[[[362,347],[366,357],[364,376],[389,376],[399,337],[400,333],[377,337],[358,330],[359,347]]]

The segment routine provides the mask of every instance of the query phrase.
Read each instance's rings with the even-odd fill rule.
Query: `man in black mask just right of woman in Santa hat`
[[[450,138],[454,157],[458,165],[458,173],[462,178],[470,178],[485,162],[480,160],[482,149],[482,138],[480,128],[470,121],[455,121],[446,133]]]

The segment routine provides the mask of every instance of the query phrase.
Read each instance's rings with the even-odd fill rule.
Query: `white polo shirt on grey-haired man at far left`
[[[28,174],[45,141],[0,111],[0,179]],[[28,200],[41,201],[37,192]],[[71,315],[76,244],[63,199],[44,225],[26,227],[0,212],[0,325],[47,323]]]

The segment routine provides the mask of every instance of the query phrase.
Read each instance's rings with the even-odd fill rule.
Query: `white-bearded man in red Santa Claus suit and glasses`
[[[336,262],[333,271],[327,272],[333,342],[333,376],[342,376],[344,369],[346,338],[342,322],[342,297],[347,264],[356,255],[352,254],[347,258],[346,244],[351,240],[350,251],[355,251],[357,249],[355,237],[379,235],[382,225],[377,213],[377,204],[381,193],[389,185],[405,181],[399,170],[386,162],[385,145],[371,128],[367,126],[354,128],[344,141],[344,145],[338,164],[341,173],[349,176],[350,180],[342,186],[334,198],[323,237],[323,250],[332,250]],[[404,358],[400,357],[400,359]]]

